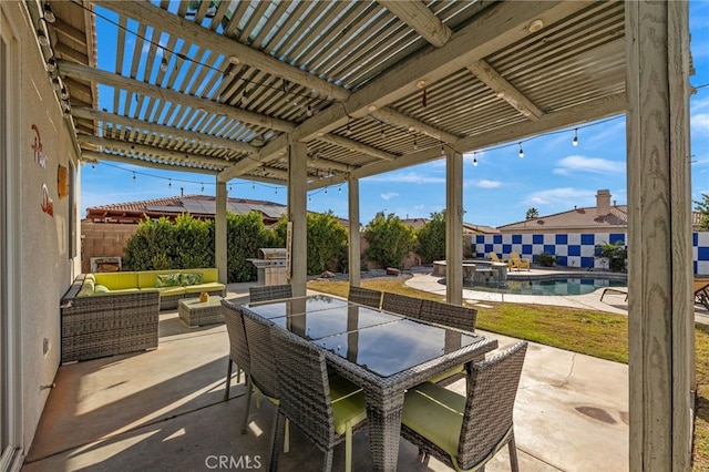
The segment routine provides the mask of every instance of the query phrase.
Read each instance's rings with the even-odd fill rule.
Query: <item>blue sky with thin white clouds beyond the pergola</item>
[[[690,98],[691,198],[709,194],[709,1],[691,1],[689,12],[697,89]],[[101,20],[97,19],[99,50]],[[110,69],[114,63],[102,64]],[[100,89],[100,105],[112,94]],[[109,105],[110,107],[111,105]],[[578,145],[573,145],[577,133]],[[627,203],[625,116],[585,123],[522,142],[515,141],[464,155],[463,208],[465,223],[502,226],[525,219],[534,207],[540,216],[595,206],[598,189],[609,189],[610,201]],[[476,161],[477,165],[473,165]],[[135,176],[135,178],[134,178]],[[369,223],[378,212],[400,218],[428,218],[445,207],[445,158],[360,179],[360,220]],[[285,186],[232,179],[229,197],[286,204]],[[82,217],[85,208],[114,203],[187,194],[215,195],[215,177],[154,168],[99,163],[81,173]],[[332,211],[347,218],[347,184],[309,193],[308,211]],[[695,205],[692,205],[692,208]]]

